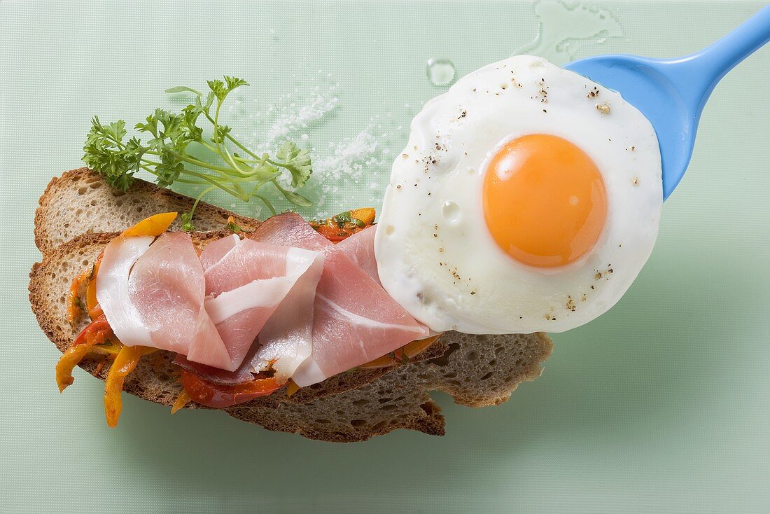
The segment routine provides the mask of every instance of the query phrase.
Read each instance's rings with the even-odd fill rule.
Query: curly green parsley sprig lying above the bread
[[[102,123],[94,116],[83,146],[83,161],[122,191],[131,186],[134,173],[139,170],[155,175],[161,187],[175,182],[206,186],[192,210],[182,215],[182,230],[193,230],[192,215],[199,200],[216,189],[243,201],[256,197],[276,213],[272,203],[259,191],[272,183],[290,203],[310,207],[313,203],[294,191],[304,186],[313,173],[306,149],[285,141],[276,150],[275,157],[268,153],[258,155],[240,143],[230,133],[229,126],[219,123],[219,114],[229,93],[248,85],[243,79],[225,76],[224,80],[209,80],[209,92],[205,96],[187,86],[166,89],[168,93],[192,93],[193,102],[178,114],[155,109],[145,123],[137,123],[134,128],[139,133],[151,136],[146,141],[137,136],[127,137],[126,122],[122,119]],[[199,122],[210,125],[206,127],[209,129],[206,135]],[[201,152],[191,152],[195,149],[208,150],[203,153],[213,158],[199,157]],[[291,174],[292,190],[279,183],[282,173]]]

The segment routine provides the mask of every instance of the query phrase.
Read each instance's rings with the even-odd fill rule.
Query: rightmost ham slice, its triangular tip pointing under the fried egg
[[[299,215],[271,217],[249,237],[324,256],[313,304],[313,351],[292,375],[297,385],[315,384],[427,337],[425,328],[366,271]]]

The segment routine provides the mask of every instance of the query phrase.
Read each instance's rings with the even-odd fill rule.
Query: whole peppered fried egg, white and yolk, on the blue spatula
[[[662,191],[654,129],[618,92],[505,59],[413,119],[377,228],[380,281],[434,331],[566,331],[631,286]]]

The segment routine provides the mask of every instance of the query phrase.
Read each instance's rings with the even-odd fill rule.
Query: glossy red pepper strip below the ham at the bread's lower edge
[[[182,387],[193,401],[212,408],[231,407],[266,396],[281,387],[275,378],[255,378],[236,385],[219,385],[182,370]]]

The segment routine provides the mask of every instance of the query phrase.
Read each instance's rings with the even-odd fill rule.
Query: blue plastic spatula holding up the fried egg
[[[663,198],[685,174],[695,130],[708,96],[738,62],[770,41],[770,5],[724,38],[678,59],[598,55],[571,62],[567,69],[620,92],[658,133],[663,164]]]

